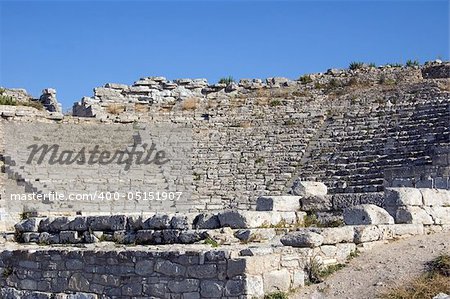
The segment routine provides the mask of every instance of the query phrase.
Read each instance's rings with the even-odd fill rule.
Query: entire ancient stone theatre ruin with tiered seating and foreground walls
[[[226,84],[146,77],[95,88],[72,115],[53,89],[41,110],[1,105],[0,297],[263,298],[314,282],[312,265],[448,232],[449,83],[436,61]],[[21,160],[36,142],[142,150],[154,136],[176,137],[161,141],[182,157],[174,167]],[[10,200],[160,186],[185,197]]]

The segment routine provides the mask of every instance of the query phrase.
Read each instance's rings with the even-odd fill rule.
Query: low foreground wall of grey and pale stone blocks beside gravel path
[[[310,282],[312,265],[325,269],[398,238],[450,231],[447,190],[391,188],[386,210],[357,204],[343,208],[346,225],[305,227],[310,197],[326,187],[302,186],[301,195],[259,198],[258,211],[24,219],[15,226],[20,244],[0,242],[0,294],[263,298]]]

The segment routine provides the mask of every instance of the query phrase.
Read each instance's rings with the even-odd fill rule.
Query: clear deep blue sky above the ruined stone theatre
[[[3,1],[0,86],[64,109],[108,82],[449,59],[449,1]]]

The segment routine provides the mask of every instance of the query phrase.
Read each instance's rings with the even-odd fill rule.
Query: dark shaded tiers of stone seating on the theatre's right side
[[[385,170],[432,165],[448,148],[449,107],[448,94],[422,91],[377,110],[332,116],[299,177],[325,182],[330,193],[382,191]]]

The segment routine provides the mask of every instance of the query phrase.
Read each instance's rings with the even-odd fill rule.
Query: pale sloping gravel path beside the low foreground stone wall
[[[450,254],[449,232],[380,245],[361,253],[325,282],[302,288],[291,298],[377,298],[388,287],[420,276],[424,264],[441,253]]]

